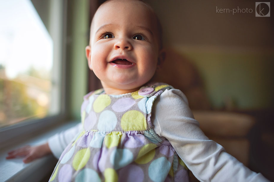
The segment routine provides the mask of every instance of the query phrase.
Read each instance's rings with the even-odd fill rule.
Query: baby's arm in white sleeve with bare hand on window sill
[[[50,137],[45,144],[37,146],[24,146],[19,149],[8,152],[6,159],[13,159],[15,157],[24,157],[23,162],[29,163],[37,158],[44,157],[49,154],[53,154],[56,158],[59,158],[65,147],[73,139],[73,137],[81,130],[81,123],[76,126],[57,133]]]

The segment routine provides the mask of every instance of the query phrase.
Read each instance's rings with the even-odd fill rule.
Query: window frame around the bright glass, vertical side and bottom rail
[[[17,124],[13,124],[10,126],[6,126],[0,128],[0,146],[6,147],[12,143],[19,142],[28,137],[34,136],[39,132],[49,129],[53,125],[62,124],[68,118],[68,93],[66,92],[67,88],[67,69],[68,64],[66,64],[66,52],[67,52],[67,11],[68,11],[68,0],[60,0],[60,1],[51,1],[51,3],[60,3],[59,9],[55,9],[55,13],[57,11],[61,11],[60,13],[60,21],[62,24],[58,27],[58,35],[60,35],[60,39],[58,41],[59,53],[58,58],[60,58],[59,68],[61,73],[60,75],[60,113],[54,116],[46,116],[42,119],[28,119],[26,121],[22,121]],[[55,7],[54,7],[55,8]],[[49,12],[49,16],[52,16],[52,11]],[[55,51],[55,50],[54,50]],[[24,136],[24,137],[19,137]],[[12,140],[18,138],[16,141]]]

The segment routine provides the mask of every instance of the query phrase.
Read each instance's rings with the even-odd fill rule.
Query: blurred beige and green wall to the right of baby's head
[[[227,100],[240,110],[273,107],[273,16],[255,17],[255,2],[246,0],[148,3],[162,22],[164,45],[195,64],[213,108]],[[216,6],[253,12],[216,13]]]

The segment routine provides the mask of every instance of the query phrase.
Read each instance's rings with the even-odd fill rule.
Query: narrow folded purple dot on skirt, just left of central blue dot
[[[97,151],[93,157],[92,163],[95,170],[99,170],[102,172],[105,170],[105,164],[108,158],[108,150],[105,147],[102,148],[102,151],[100,151],[100,149],[98,150],[99,151]]]

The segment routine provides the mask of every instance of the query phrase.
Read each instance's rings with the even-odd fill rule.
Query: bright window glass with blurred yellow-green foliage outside
[[[0,128],[64,113],[64,4],[0,1]]]

